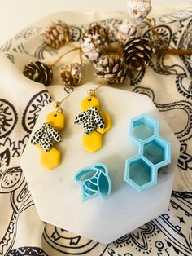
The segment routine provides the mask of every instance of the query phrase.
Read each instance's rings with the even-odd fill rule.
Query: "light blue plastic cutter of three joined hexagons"
[[[159,136],[159,121],[147,114],[131,120],[129,136],[138,153],[126,160],[124,181],[142,191],[154,186],[159,168],[171,162],[171,143]]]

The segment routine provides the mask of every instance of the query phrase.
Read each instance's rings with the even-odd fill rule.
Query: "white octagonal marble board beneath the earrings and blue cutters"
[[[26,86],[24,77],[23,82]],[[67,122],[63,130],[63,141],[56,146],[63,154],[60,165],[53,171],[42,167],[39,161],[41,153],[28,139],[21,158],[21,168],[41,220],[108,244],[167,210],[180,143],[146,95],[106,86],[97,90],[97,97],[102,110],[111,116],[112,129],[103,135],[103,148],[95,154],[86,152],[82,148],[82,126],[75,126],[74,119],[80,113],[80,104],[76,103],[85,98],[90,87],[94,89],[95,86],[92,83],[84,85],[63,102]],[[56,99],[62,95],[62,89],[60,86],[60,90],[55,90]],[[38,130],[52,111],[53,105],[46,105],[33,130]],[[172,144],[172,162],[159,172],[155,186],[140,193],[124,183],[124,162],[138,150],[129,139],[130,118],[142,113],[148,113],[159,120],[159,134]],[[104,163],[108,167],[111,196],[106,201],[97,196],[82,203],[80,186],[73,181],[73,177],[81,168],[96,163]]]

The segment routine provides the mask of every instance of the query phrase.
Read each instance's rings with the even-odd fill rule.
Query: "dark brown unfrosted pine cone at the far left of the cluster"
[[[53,78],[52,68],[38,60],[34,62],[30,61],[24,67],[23,73],[25,77],[36,82],[41,82],[45,86],[49,86]]]

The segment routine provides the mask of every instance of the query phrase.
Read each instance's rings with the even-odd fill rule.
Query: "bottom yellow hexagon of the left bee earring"
[[[46,167],[47,170],[51,170],[59,166],[61,160],[61,153],[56,148],[51,148],[46,152],[41,150],[41,166]]]

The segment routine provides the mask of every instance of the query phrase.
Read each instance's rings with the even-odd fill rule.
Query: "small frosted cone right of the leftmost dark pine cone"
[[[84,65],[72,63],[60,68],[60,76],[66,86],[79,86],[85,73]]]

